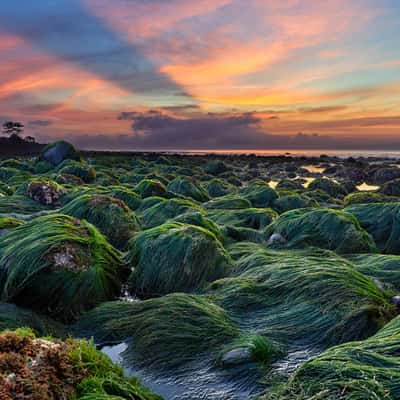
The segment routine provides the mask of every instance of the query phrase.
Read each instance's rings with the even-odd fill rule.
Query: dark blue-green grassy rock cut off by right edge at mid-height
[[[400,254],[400,203],[358,204],[345,211],[355,215],[381,252]]]

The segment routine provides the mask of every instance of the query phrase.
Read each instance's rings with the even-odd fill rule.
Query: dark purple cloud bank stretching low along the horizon
[[[82,149],[179,150],[179,149],[400,149],[400,137],[361,140],[318,133],[274,135],[266,133],[253,113],[196,114],[178,118],[160,110],[122,112],[118,120],[131,123],[131,133],[77,135],[71,140]],[[44,139],[44,138],[43,138]]]

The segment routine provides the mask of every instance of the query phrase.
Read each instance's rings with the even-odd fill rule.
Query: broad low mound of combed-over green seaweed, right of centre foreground
[[[326,250],[271,251],[239,243],[236,267],[208,293],[244,330],[278,348],[311,352],[375,333],[396,310],[391,295]]]

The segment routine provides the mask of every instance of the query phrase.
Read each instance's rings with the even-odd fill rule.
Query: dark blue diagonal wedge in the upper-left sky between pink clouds
[[[140,46],[110,29],[80,0],[24,1],[22,9],[1,1],[0,26],[6,38],[17,38],[131,93],[184,89],[158,71]]]

